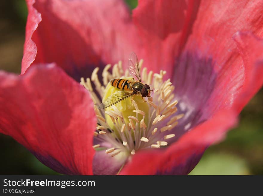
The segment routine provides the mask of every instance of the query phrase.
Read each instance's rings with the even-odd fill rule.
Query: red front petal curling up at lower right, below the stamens
[[[198,163],[205,149],[224,138],[237,122],[232,110],[222,110],[213,118],[183,135],[168,149],[138,152],[121,171],[122,175],[185,175]]]

